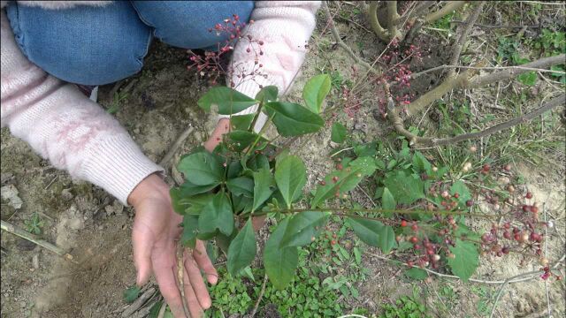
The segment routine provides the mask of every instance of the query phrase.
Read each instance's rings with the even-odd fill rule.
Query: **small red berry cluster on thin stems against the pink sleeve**
[[[249,25],[252,24],[254,24],[254,20],[249,20]],[[188,53],[191,55],[189,60],[192,64],[189,64],[187,68],[189,70],[195,68],[201,77],[209,79],[210,85],[216,85],[220,76],[230,73],[235,74],[237,79],[241,79],[241,82],[247,79],[255,80],[256,76],[267,77],[266,74],[260,72],[264,65],[259,63],[259,57],[264,55],[262,49],[264,42],[253,39],[251,35],[242,36],[246,25],[246,22],[242,22],[237,14],[233,14],[232,19],[224,20],[224,24],[218,23],[215,27],[209,28],[210,33],[216,32],[218,36],[226,35],[226,41],[224,43],[218,42],[217,51],[205,51],[203,55],[195,54],[189,50]],[[227,68],[223,66],[223,57],[233,51],[235,42],[244,39],[248,41],[246,51],[255,55],[253,69],[251,71],[246,70],[241,64],[230,64]],[[238,84],[240,83],[235,83],[233,80],[230,82],[231,87],[236,87]]]

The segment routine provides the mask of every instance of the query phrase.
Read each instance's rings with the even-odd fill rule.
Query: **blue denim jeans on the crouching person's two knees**
[[[229,34],[209,29],[233,14],[248,22],[253,9],[253,1],[115,1],[65,10],[12,4],[6,13],[31,62],[58,79],[103,85],[139,72],[154,37],[183,49],[217,49]]]

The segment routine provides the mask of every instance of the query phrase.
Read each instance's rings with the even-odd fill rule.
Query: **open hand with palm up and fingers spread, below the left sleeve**
[[[137,270],[136,284],[148,282],[151,272],[156,276],[159,291],[175,317],[185,317],[181,295],[177,287],[177,244],[183,217],[172,209],[169,186],[157,175],[148,178],[134,188],[128,203],[135,209],[134,264]],[[218,273],[208,255],[203,241],[197,240],[194,250],[184,251],[184,293],[191,317],[201,317],[203,309],[211,305],[210,295],[203,281],[201,269],[210,284],[218,282]]]

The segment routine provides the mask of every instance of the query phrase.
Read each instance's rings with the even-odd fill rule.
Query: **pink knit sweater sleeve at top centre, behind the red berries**
[[[310,35],[316,26],[316,13],[320,1],[256,1],[249,24],[243,32],[243,39],[238,42],[233,51],[233,73],[228,79],[236,85],[239,92],[255,97],[262,87],[275,85],[279,95],[285,93],[304,61]],[[263,55],[258,57],[258,63],[263,64],[261,71],[267,78],[256,76],[254,80],[238,78],[241,72],[250,73],[254,70],[255,54],[247,49],[250,35],[253,40],[263,41]],[[257,107],[250,107],[237,115],[256,112]],[[219,117],[228,117],[220,115]],[[267,119],[261,114],[256,124],[256,131],[264,125]]]

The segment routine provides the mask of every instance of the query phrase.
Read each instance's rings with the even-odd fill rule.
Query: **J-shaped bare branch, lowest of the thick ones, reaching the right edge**
[[[392,110],[392,108],[394,109],[393,99],[390,100],[387,106],[388,107],[387,117],[389,117],[389,120],[391,120],[391,122],[393,123],[397,133],[400,133],[403,136],[405,136],[410,141],[411,145],[419,144],[426,147],[436,147],[436,146],[455,144],[457,142],[461,142],[464,140],[478,139],[493,133],[501,132],[502,130],[509,129],[515,125],[519,125],[521,123],[525,123],[529,120],[532,120],[532,118],[534,117],[539,117],[548,110],[552,110],[557,106],[563,105],[565,101],[566,101],[566,95],[562,94],[550,100],[549,102],[545,103],[544,105],[540,106],[538,109],[532,110],[531,112],[526,113],[523,116],[515,117],[498,125],[493,125],[478,133],[463,133],[450,138],[419,137],[414,133],[410,133],[403,126],[402,119],[397,114],[397,111]],[[391,106],[392,104],[393,106]]]

